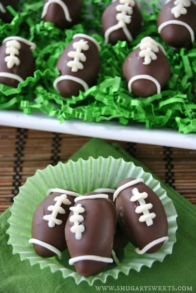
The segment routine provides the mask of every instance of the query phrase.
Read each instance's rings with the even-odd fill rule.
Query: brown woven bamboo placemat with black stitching
[[[83,136],[1,126],[0,213],[13,202],[27,177],[48,164],[66,161],[88,140]],[[196,150],[118,143],[196,205]]]

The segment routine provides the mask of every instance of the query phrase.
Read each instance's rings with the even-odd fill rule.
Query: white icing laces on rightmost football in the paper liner
[[[149,209],[153,207],[151,203],[146,204],[145,198],[148,197],[148,194],[146,192],[139,192],[137,188],[134,188],[132,190],[133,196],[131,197],[130,201],[131,202],[136,202],[138,201],[140,206],[136,207],[135,212],[137,214],[143,213],[142,216],[140,216],[139,221],[140,222],[146,222],[147,226],[153,225],[153,220],[156,217],[155,213],[150,213]]]

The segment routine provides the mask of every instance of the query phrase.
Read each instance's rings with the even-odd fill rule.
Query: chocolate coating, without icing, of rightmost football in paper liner
[[[118,187],[132,180],[134,178],[124,179],[118,184]],[[133,195],[132,189],[134,188],[137,188],[139,192],[147,192],[148,197],[145,199],[145,202],[146,204],[151,203],[153,205],[149,212],[154,212],[156,217],[153,219],[153,225],[151,226],[147,226],[146,222],[139,222],[139,217],[143,214],[137,214],[135,209],[140,204],[138,201],[130,201]],[[162,202],[154,191],[144,183],[135,184],[120,192],[116,198],[116,213],[118,224],[123,229],[126,237],[135,247],[139,247],[140,250],[151,241],[167,236],[168,223]],[[147,253],[157,251],[162,245],[163,242],[153,246]]]

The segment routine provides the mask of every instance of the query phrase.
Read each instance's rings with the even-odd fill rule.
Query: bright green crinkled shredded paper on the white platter
[[[14,16],[12,22],[5,24],[0,20],[0,43],[11,35],[35,42],[36,71],[34,77],[28,77],[17,89],[0,84],[0,109],[20,109],[25,114],[36,110],[57,117],[61,123],[78,118],[86,122],[117,120],[127,125],[134,120],[145,123],[146,128],[167,126],[183,133],[196,132],[196,42],[190,50],[167,47],[157,31],[158,0],[140,1],[144,19],[141,32],[133,41],[118,41],[116,45],[104,45],[101,28],[101,16],[110,0],[83,0],[80,23],[65,30],[41,19],[42,0],[18,2],[19,12],[8,6]],[[147,6],[151,6],[151,14],[147,13]],[[76,33],[89,34],[99,42],[101,67],[95,86],[78,96],[64,98],[53,88],[55,77],[60,75],[56,63]],[[127,55],[146,36],[154,38],[166,50],[171,77],[161,94],[138,98],[129,93],[122,66]]]

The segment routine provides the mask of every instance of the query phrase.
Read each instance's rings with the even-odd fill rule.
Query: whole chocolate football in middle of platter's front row
[[[76,34],[60,56],[57,68],[60,76],[55,79],[54,88],[64,97],[78,96],[93,86],[99,71],[98,42],[85,34]]]

